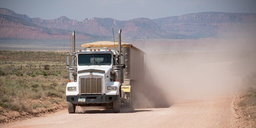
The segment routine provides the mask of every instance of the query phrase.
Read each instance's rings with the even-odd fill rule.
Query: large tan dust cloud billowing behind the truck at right
[[[256,72],[256,39],[176,41],[141,46],[147,53],[146,74],[144,83],[134,87],[135,108],[232,96]]]

